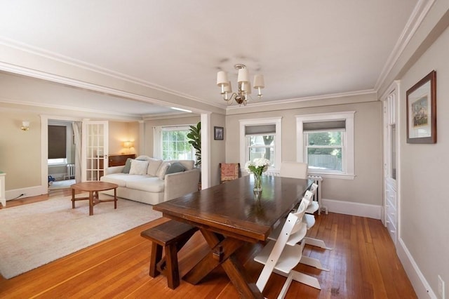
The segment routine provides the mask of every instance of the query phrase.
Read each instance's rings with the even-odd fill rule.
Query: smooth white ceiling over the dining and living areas
[[[251,77],[264,74],[262,102],[375,92],[415,5],[417,0],[0,0],[0,43],[226,107],[216,73],[227,71],[236,86],[236,63],[247,65]],[[67,90],[73,96],[58,105],[79,105],[76,92],[86,93]],[[91,107],[97,98],[114,102],[121,113],[170,110],[160,101],[100,93],[90,93],[83,107],[98,109]]]

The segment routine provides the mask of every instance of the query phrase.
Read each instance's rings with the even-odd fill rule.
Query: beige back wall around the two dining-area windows
[[[365,100],[363,98],[363,100]],[[339,99],[334,99],[338,102]],[[352,99],[356,101],[356,97]],[[317,101],[319,102],[319,101]],[[282,161],[296,161],[296,115],[356,111],[354,180],[326,178],[323,198],[382,205],[382,105],[379,101],[229,115],[226,117],[226,161],[239,162],[239,120],[282,117]],[[243,166],[241,166],[243,167]]]

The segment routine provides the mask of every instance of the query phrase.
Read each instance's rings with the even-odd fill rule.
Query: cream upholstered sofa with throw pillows
[[[200,170],[193,160],[163,161],[148,156],[127,159],[124,166],[105,170],[100,180],[119,185],[117,197],[159,204],[198,191]],[[102,193],[114,195],[114,190]]]

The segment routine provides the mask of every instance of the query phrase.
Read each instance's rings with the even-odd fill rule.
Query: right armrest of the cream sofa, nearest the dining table
[[[163,201],[198,191],[200,172],[198,168],[194,168],[190,171],[166,175],[164,179]]]

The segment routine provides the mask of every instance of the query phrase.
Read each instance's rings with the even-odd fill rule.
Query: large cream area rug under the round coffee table
[[[88,201],[76,201],[72,209],[70,198],[0,210],[3,277],[15,277],[162,216],[149,204],[126,199],[119,199],[116,210],[113,202],[98,204],[89,216]]]

